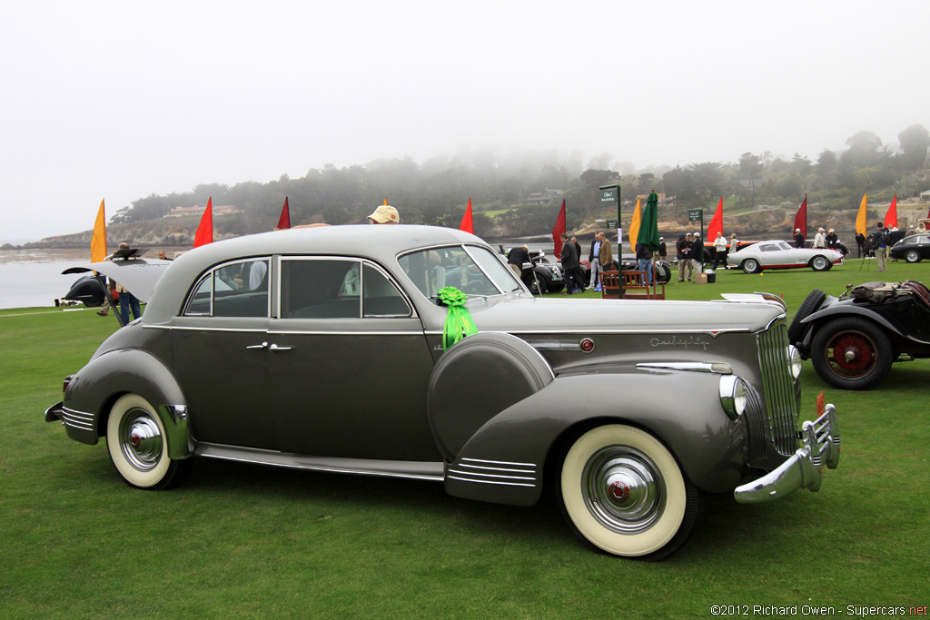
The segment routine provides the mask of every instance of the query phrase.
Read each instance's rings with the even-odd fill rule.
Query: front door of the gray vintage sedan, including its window
[[[281,257],[267,389],[281,450],[438,461],[426,416],[432,355],[401,287],[358,258]]]

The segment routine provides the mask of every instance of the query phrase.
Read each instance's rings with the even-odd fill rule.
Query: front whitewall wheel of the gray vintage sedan
[[[582,541],[647,561],[681,547],[702,506],[697,487],[658,439],[618,424],[591,429],[572,444],[557,489]]]

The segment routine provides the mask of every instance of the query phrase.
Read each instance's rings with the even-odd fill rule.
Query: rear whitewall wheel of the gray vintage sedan
[[[126,394],[113,404],[107,420],[107,449],[113,466],[129,486],[161,490],[178,484],[192,460],[168,458],[165,426],[148,401]]]

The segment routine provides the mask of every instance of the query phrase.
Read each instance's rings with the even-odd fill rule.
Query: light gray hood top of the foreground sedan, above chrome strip
[[[716,333],[758,332],[785,310],[776,303],[514,298],[469,305],[480,331],[510,333]]]

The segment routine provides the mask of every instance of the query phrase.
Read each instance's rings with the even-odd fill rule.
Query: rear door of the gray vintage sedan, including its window
[[[269,266],[264,257],[207,271],[175,318],[175,373],[197,441],[277,448],[265,389]]]

